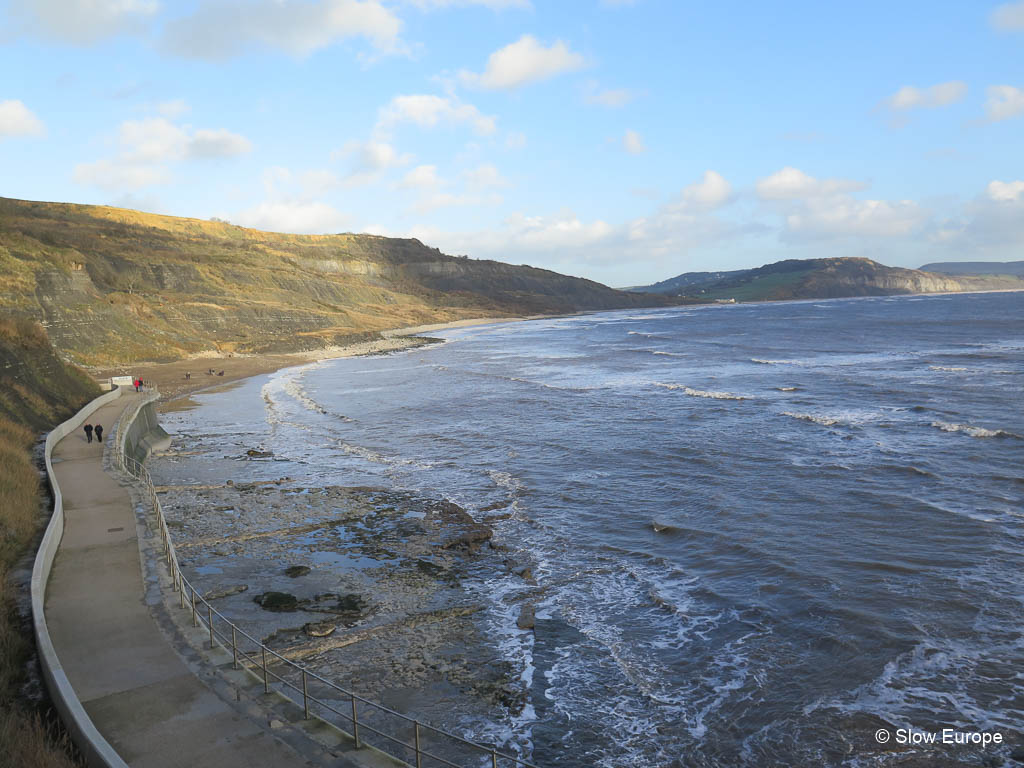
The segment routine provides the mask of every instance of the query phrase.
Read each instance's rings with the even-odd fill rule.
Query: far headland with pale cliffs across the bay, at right
[[[718,274],[724,276],[718,278]],[[920,269],[885,266],[870,259],[830,258],[787,259],[732,272],[685,272],[653,286],[631,290],[707,300],[779,301],[1008,288],[1024,289],[1024,280],[977,275],[951,278]]]

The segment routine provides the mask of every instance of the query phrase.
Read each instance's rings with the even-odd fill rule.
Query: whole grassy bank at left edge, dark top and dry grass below
[[[75,765],[62,731],[18,697],[34,646],[9,577],[41,524],[40,474],[32,458],[39,431],[97,393],[80,371],[57,359],[39,326],[0,317],[0,766]]]

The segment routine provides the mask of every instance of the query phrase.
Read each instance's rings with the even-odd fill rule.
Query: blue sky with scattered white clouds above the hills
[[[1024,259],[1024,0],[0,0],[0,196],[612,286]]]

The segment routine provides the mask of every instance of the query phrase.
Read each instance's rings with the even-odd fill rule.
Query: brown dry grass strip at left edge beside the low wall
[[[0,768],[73,768],[71,744],[59,726],[43,721],[17,698],[33,652],[14,606],[9,571],[36,532],[40,478],[32,462],[35,435],[0,419]]]

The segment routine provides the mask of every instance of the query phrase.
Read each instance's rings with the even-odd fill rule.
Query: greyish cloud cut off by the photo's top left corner
[[[9,0],[14,29],[87,45],[145,30],[156,0]]]

